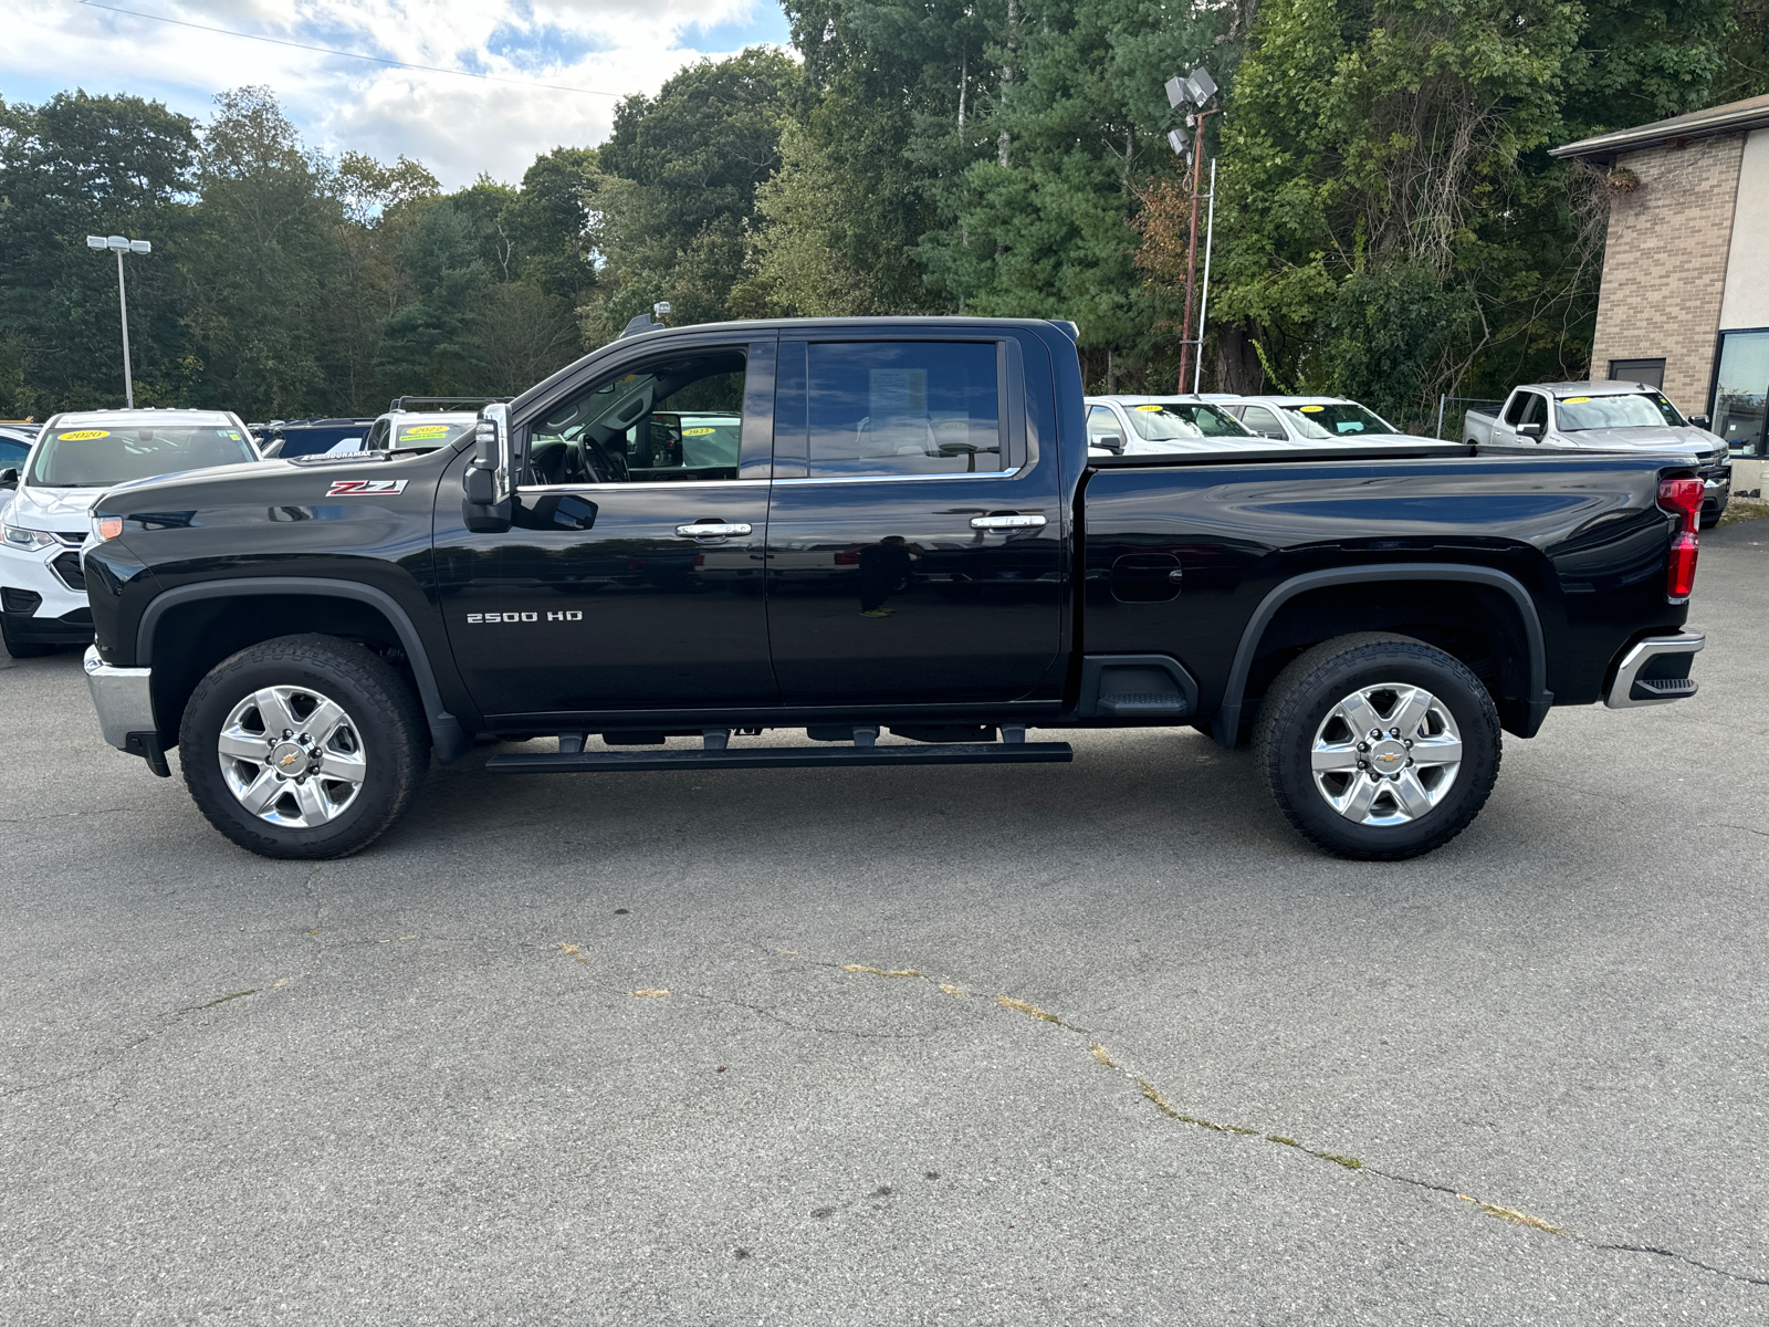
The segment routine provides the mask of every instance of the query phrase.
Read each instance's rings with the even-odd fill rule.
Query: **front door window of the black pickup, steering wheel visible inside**
[[[532,428],[525,485],[736,479],[741,350],[678,352],[566,398]]]

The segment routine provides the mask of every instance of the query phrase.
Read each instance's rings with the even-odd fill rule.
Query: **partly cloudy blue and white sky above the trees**
[[[78,87],[207,119],[218,92],[262,83],[308,147],[403,154],[444,188],[481,172],[513,184],[541,152],[607,138],[617,97],[702,57],[787,42],[778,0],[0,0],[0,16],[11,103]]]

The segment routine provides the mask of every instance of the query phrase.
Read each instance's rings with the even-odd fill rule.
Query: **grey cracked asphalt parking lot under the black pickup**
[[[1769,522],[1419,862],[1244,752],[435,770],[249,856],[0,658],[0,1322],[1769,1318]]]

